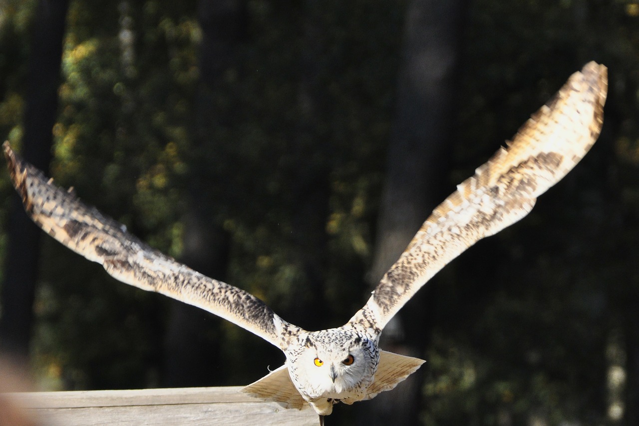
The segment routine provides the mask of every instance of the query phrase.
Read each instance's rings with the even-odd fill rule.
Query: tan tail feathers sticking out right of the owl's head
[[[425,363],[424,359],[380,351],[380,364],[375,373],[375,379],[367,390],[366,398],[376,397],[380,392],[391,390],[406,377],[417,371]],[[343,400],[343,402],[346,402]],[[346,402],[348,404],[348,402]]]

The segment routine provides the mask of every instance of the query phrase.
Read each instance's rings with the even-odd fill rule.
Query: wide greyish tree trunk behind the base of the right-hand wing
[[[401,255],[431,210],[447,194],[456,62],[464,11],[461,0],[413,0],[406,11],[397,111],[383,189],[372,285]],[[424,291],[383,333],[382,347],[422,356],[429,340]],[[404,331],[403,324],[411,324]],[[360,424],[419,423],[422,367],[392,392],[362,406]]]

